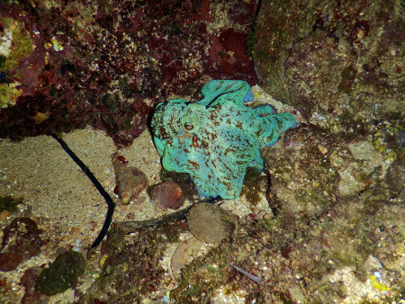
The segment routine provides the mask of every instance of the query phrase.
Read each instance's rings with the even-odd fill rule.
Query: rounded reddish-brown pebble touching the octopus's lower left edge
[[[150,199],[157,203],[157,207],[177,210],[183,206],[183,190],[178,183],[166,181],[158,183],[150,192]]]

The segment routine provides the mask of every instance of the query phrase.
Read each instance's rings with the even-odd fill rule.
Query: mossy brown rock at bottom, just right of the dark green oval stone
[[[110,232],[102,245],[107,255],[102,273],[79,302],[139,303],[166,293],[161,261],[166,247],[184,231],[179,221],[159,228],[138,228],[125,238],[121,231]]]

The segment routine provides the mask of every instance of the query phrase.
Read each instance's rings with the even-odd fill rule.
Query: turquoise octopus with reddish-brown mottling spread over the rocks
[[[269,104],[254,109],[250,86],[239,80],[211,80],[195,103],[158,103],[151,127],[162,165],[190,174],[200,196],[237,200],[247,166],[263,170],[260,149],[297,125],[290,113]]]

